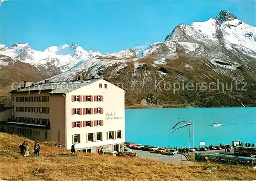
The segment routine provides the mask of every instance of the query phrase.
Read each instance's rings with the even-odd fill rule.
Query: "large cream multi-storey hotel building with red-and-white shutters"
[[[48,82],[10,92],[12,119],[0,122],[6,132],[63,148],[96,153],[120,151],[125,135],[125,91],[100,78]]]

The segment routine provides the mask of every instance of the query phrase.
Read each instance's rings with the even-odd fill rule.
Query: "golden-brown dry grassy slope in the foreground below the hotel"
[[[26,140],[32,149],[33,141],[0,133],[0,150],[18,152]],[[41,157],[20,157],[0,151],[2,180],[252,180],[252,168],[215,165],[217,170],[205,171],[209,164],[163,164],[147,159],[124,159],[108,155],[79,153],[70,156],[68,150],[54,148],[52,143],[40,143]],[[31,151],[32,152],[32,151]],[[36,168],[42,173],[32,174]]]

